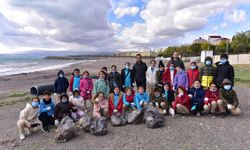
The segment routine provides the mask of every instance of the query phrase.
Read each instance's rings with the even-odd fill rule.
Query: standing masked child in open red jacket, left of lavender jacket
[[[169,67],[165,70],[165,72],[163,73],[163,77],[162,77],[162,80],[163,80],[163,84],[165,84],[166,82],[170,83],[171,85],[171,88],[173,87],[174,85],[174,77],[176,75],[176,69],[175,69],[175,65],[174,63],[171,63],[169,65]]]

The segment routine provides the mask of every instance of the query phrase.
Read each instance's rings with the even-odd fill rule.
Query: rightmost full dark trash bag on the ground
[[[156,108],[149,106],[144,114],[146,126],[148,128],[159,128],[165,125],[165,117]]]

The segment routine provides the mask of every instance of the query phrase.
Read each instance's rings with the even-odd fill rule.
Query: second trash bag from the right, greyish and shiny
[[[126,118],[129,124],[139,124],[143,121],[143,111],[135,110],[131,113],[126,113]]]

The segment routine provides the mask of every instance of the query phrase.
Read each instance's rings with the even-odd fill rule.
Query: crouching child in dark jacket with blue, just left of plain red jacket
[[[170,108],[172,108],[172,102],[174,101],[174,91],[171,89],[171,85],[168,82],[163,85],[163,88],[163,98],[166,103],[166,109],[169,112]]]

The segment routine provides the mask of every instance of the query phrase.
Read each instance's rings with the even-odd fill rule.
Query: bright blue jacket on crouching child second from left
[[[47,107],[51,107],[50,110],[47,110]],[[54,115],[55,103],[52,99],[49,101],[41,100],[39,105],[39,113],[47,112],[48,116]]]

